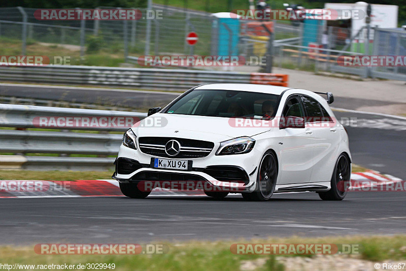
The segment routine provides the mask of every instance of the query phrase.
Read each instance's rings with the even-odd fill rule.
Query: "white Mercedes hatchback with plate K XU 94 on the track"
[[[113,178],[133,198],[150,194],[141,182],[190,181],[212,197],[313,191],[342,200],[351,154],[332,102],[331,93],[279,86],[193,87],[125,132]]]

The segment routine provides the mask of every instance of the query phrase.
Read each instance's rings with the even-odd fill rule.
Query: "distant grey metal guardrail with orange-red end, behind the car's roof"
[[[258,73],[201,71],[182,69],[111,68],[87,66],[41,66],[0,67],[0,80],[67,83],[90,85],[132,86],[138,89],[181,90],[205,83],[250,83]],[[266,80],[256,83],[277,85],[283,81],[287,86],[287,75],[282,79],[276,74],[262,74]],[[269,79],[271,78],[271,79]],[[277,80],[273,80],[276,78]]]

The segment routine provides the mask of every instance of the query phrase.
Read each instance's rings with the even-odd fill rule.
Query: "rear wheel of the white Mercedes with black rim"
[[[351,162],[346,154],[341,154],[335,163],[333,175],[331,176],[331,189],[327,192],[319,192],[322,200],[343,200],[347,191],[340,191],[337,187],[340,181],[348,181],[351,177]]]

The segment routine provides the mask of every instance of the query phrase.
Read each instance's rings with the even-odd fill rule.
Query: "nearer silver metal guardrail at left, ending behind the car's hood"
[[[102,170],[113,167],[114,158],[120,146],[122,134],[109,134],[108,131],[124,132],[124,118],[137,122],[146,113],[108,111],[93,109],[73,109],[43,106],[0,104],[0,127],[19,130],[0,130],[0,168],[22,168],[33,170]],[[66,124],[67,119],[102,119],[104,125],[77,127],[41,126],[39,118],[53,119]],[[104,119],[103,119],[104,118]],[[59,120],[58,120],[59,119]],[[109,125],[109,121],[110,124]],[[117,121],[122,126],[115,127]],[[90,124],[90,122],[89,122]],[[62,131],[30,131],[24,128],[52,128]],[[69,130],[100,131],[100,133],[71,132]],[[60,156],[29,156],[26,154],[57,154]],[[102,157],[69,157],[69,155],[97,155]]]

